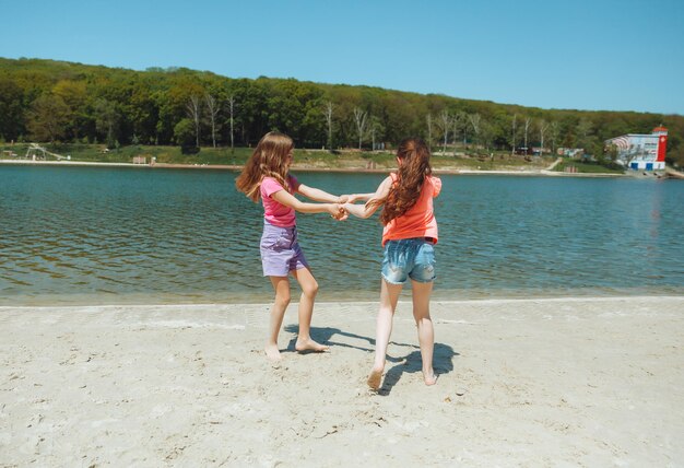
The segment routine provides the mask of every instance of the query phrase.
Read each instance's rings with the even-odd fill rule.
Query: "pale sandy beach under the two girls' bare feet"
[[[1,307],[0,466],[684,465],[684,296],[436,302],[434,387],[402,302],[379,394],[377,303],[295,307]]]

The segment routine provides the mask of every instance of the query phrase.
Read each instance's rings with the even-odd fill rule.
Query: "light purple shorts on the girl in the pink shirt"
[[[264,221],[259,250],[264,277],[286,277],[309,266],[297,242],[297,226],[279,227]]]

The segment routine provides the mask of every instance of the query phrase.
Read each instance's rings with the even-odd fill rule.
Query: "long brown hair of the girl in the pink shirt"
[[[235,179],[237,189],[252,201],[259,201],[263,177],[273,177],[287,188],[287,155],[294,148],[292,138],[284,133],[270,131],[264,134]]]

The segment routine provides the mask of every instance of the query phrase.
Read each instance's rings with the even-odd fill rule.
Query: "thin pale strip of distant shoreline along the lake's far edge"
[[[214,171],[240,171],[243,165],[233,164],[133,164],[133,163],[102,163],[90,161],[27,161],[27,160],[0,160],[0,164],[7,165],[35,165],[35,166],[92,166],[92,167],[137,167],[137,168],[184,168],[184,169],[214,169]],[[365,167],[315,167],[306,165],[294,165],[295,172],[319,172],[319,173],[367,173],[385,174],[388,168],[365,168]],[[562,173],[546,169],[535,171],[482,171],[482,169],[459,169],[459,168],[433,168],[435,174],[446,175],[504,175],[504,176],[546,176],[546,177],[629,177],[627,174],[614,173]]]

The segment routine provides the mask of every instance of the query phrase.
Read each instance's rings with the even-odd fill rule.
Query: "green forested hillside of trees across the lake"
[[[134,71],[0,58],[0,139],[10,141],[252,145],[269,130],[298,148],[391,148],[406,136],[474,151],[582,148],[669,129],[668,160],[684,165],[684,116],[541,109],[294,79],[233,79],[186,68]]]

